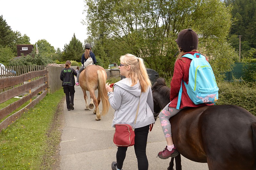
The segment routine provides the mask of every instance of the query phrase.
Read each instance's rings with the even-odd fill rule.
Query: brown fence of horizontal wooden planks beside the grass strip
[[[0,93],[0,104],[6,102],[7,100],[19,96],[22,93],[29,91],[27,96],[22,97],[16,102],[9,104],[8,106],[0,110],[0,120],[3,120],[7,115],[15,111],[22,104],[30,101],[30,103],[20,109],[18,112],[13,113],[0,123],[0,129],[7,128],[8,125],[12,124],[16,119],[20,118],[23,112],[27,109],[33,108],[37,103],[39,103],[47,93],[47,82],[48,82],[47,70],[32,71],[19,76],[5,77],[1,78],[0,89],[4,89],[12,86],[8,90]],[[33,90],[32,90],[33,89]],[[33,91],[33,92],[32,92]],[[37,96],[39,92],[43,92],[39,97],[36,97],[32,101],[32,98]]]

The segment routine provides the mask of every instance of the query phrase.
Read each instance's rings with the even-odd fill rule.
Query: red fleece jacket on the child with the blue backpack
[[[194,55],[195,53],[198,53],[198,52],[194,51],[194,52],[187,52],[187,53]],[[191,61],[192,60],[190,58],[183,57],[182,60],[181,59],[177,60],[174,65],[174,73],[171,81],[171,91],[170,91],[171,103],[169,107],[176,108],[177,106],[181,81],[184,80],[188,84],[189,66]],[[213,105],[213,104],[194,104],[191,101],[191,99],[188,97],[187,89],[184,83],[182,83],[180,109],[182,109],[183,107],[198,107],[203,105]]]

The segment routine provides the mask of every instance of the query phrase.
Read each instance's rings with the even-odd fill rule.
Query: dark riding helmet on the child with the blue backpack
[[[175,41],[185,52],[197,50],[198,36],[191,28],[180,31],[178,38]]]

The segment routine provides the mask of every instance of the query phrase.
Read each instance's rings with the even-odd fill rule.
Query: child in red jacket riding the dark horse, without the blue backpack
[[[171,81],[171,91],[170,91],[170,103],[167,104],[162,112],[159,114],[159,119],[161,121],[161,126],[164,132],[164,136],[167,142],[167,146],[164,148],[163,151],[158,153],[158,157],[161,159],[167,159],[169,157],[175,157],[179,154],[176,150],[173,141],[172,141],[172,133],[171,133],[171,124],[169,119],[180,112],[185,107],[198,107],[202,105],[212,105],[212,104],[194,104],[192,100],[189,98],[185,83],[188,84],[188,75],[189,75],[189,67],[191,63],[190,58],[185,58],[185,54],[197,54],[199,53],[197,50],[198,45],[198,36],[197,34],[191,29],[184,29],[182,30],[177,40],[175,40],[178,44],[180,54],[178,55],[175,65],[174,65],[174,73]],[[206,58],[207,60],[207,58]],[[184,83],[182,83],[184,81]],[[198,84],[202,84],[204,82],[197,82]],[[181,89],[182,84],[182,95],[181,95],[181,102],[180,108],[177,107],[178,104],[178,97],[179,91]]]

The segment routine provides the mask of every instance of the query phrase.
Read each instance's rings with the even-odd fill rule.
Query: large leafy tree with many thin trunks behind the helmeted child
[[[231,26],[231,8],[219,0],[86,0],[86,4],[88,34],[95,37],[93,41],[108,42],[101,43],[107,56],[109,49],[130,52],[159,74],[173,72],[173,55],[178,50],[175,39],[182,29],[194,29],[199,35],[199,50],[212,56],[222,51],[217,45],[218,49],[213,49],[212,43],[225,44]],[[228,44],[225,47],[233,50]],[[111,57],[119,59],[119,51],[114,52]],[[234,56],[224,55],[229,66]],[[212,58],[218,61],[218,56]]]

